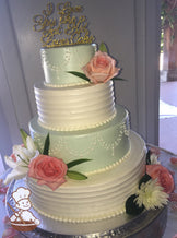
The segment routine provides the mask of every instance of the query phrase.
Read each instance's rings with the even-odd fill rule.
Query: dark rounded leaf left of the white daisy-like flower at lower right
[[[140,207],[134,201],[137,197],[137,194],[132,194],[126,201],[126,213],[129,215],[139,215],[144,210],[144,205]]]

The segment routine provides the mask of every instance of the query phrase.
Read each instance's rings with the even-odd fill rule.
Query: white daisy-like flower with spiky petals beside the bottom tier
[[[146,183],[143,182],[135,194],[138,197],[134,202],[139,206],[144,205],[146,210],[163,207],[168,201],[168,194],[163,191],[156,179],[150,179]]]

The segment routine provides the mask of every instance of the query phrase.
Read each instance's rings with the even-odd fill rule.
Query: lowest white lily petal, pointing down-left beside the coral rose
[[[10,174],[8,174],[7,178],[4,179],[4,185],[9,185],[13,179],[22,179],[26,176],[28,167],[17,166],[16,168],[12,169]]]

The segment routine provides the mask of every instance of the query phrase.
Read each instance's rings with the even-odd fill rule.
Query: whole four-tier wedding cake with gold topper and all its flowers
[[[166,205],[173,177],[163,166],[151,165],[143,139],[130,129],[129,112],[115,103],[114,80],[119,79],[120,69],[105,44],[93,44],[85,19],[72,16],[82,8],[66,2],[57,9],[57,32],[49,19],[52,3],[44,15],[34,17],[36,31],[44,31],[45,78],[34,86],[37,115],[30,121],[31,136],[21,130],[23,145],[14,145],[12,155],[5,156],[12,170],[4,183],[17,181],[9,193],[22,187],[25,177],[23,186],[40,221],[35,225],[57,235],[109,230],[113,237],[118,235],[113,229],[123,226],[125,233],[116,233],[127,237],[150,223],[156,227],[153,219],[162,233],[166,219],[158,211],[144,213],[137,222],[126,213],[137,215]],[[63,25],[70,38],[56,39]],[[11,198],[8,204],[13,206]]]

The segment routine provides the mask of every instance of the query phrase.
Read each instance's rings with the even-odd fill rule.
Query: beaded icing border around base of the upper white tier
[[[86,130],[86,129],[98,128],[98,127],[101,127],[103,124],[106,124],[107,122],[111,121],[116,117],[116,115],[117,115],[117,111],[115,109],[114,115],[111,117],[109,117],[107,120],[102,121],[102,122],[96,123],[96,124],[92,124],[92,126],[87,124],[87,126],[83,126],[83,127],[80,127],[80,128],[76,128],[76,127],[75,128],[47,127],[47,126],[43,124],[43,122],[40,122],[39,119],[37,121],[38,121],[38,123],[39,123],[39,126],[42,128],[45,128],[45,129],[50,130],[50,131],[81,131],[81,130]]]

